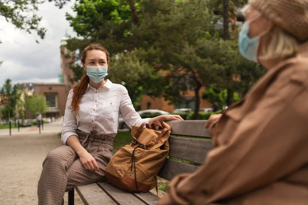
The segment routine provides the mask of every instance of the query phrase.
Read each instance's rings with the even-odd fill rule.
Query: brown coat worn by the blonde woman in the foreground
[[[308,204],[308,44],[210,127],[204,165],[170,182],[173,204]]]

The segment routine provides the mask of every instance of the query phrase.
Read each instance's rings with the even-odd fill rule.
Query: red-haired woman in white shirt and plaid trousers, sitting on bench
[[[179,115],[142,119],[126,88],[104,79],[109,53],[100,44],[86,47],[81,62],[86,74],[67,98],[61,135],[64,146],[48,153],[43,162],[38,204],[61,204],[65,191],[105,179],[120,113],[129,127],[143,122],[151,125],[153,120],[183,120]]]

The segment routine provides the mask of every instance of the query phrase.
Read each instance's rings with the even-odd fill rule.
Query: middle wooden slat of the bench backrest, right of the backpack
[[[182,137],[169,137],[169,156],[197,163],[203,163],[205,156],[212,149],[211,141]]]

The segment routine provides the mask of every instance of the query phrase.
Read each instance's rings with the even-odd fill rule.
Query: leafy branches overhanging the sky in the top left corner
[[[0,1],[0,16],[16,28],[28,33],[36,32],[43,39],[46,29],[40,26],[42,18],[35,14],[43,3],[40,0],[3,0]]]

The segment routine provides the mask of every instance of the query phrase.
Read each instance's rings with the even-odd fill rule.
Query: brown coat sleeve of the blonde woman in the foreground
[[[308,94],[301,83],[273,83],[256,109],[238,122],[225,145],[210,151],[196,173],[170,183],[172,201],[207,204],[239,196],[304,166],[308,161]]]

